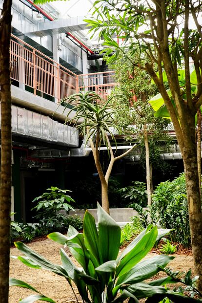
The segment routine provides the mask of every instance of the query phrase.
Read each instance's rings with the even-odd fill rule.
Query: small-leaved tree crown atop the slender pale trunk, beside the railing
[[[144,137],[143,125],[146,125],[149,132],[149,141],[165,138],[166,134],[163,130],[169,122],[162,118],[154,118],[155,112],[147,102],[158,90],[151,83],[148,73],[135,66],[136,60],[137,54],[134,57],[128,51],[127,58],[120,54],[115,64],[111,65],[116,73],[116,81],[119,83],[119,87],[115,87],[112,92],[112,96],[115,94],[117,97],[111,100],[113,108],[118,110],[116,123],[124,134],[133,135],[135,131],[141,140]]]

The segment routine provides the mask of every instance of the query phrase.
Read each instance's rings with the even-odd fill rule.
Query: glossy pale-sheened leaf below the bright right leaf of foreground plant
[[[162,255],[143,260],[135,265],[129,272],[120,276],[116,284],[133,284],[147,280],[161,271],[159,265],[165,267],[173,259],[174,257]]]

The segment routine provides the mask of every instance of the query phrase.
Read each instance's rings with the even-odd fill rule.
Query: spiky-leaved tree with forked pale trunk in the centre
[[[108,200],[108,180],[112,171],[114,162],[124,157],[130,151],[134,149],[134,144],[128,151],[115,157],[111,148],[111,144],[108,138],[110,134],[112,140],[116,144],[116,138],[114,132],[120,133],[120,129],[115,123],[114,114],[115,110],[109,106],[112,98],[116,95],[108,98],[107,101],[103,100],[101,96],[96,94],[94,91],[79,92],[68,98],[62,100],[66,101],[66,107],[72,102],[77,102],[77,105],[72,108],[67,115],[66,122],[73,123],[74,126],[81,131],[84,137],[85,143],[89,142],[93,157],[95,160],[96,168],[101,180],[101,204],[103,209],[109,214],[109,200]],[[76,111],[75,117],[68,119],[70,112]],[[117,115],[117,112],[116,112]],[[82,119],[81,124],[78,121]],[[101,162],[100,162],[100,146],[103,143],[108,150],[110,162],[106,173],[103,173]]]

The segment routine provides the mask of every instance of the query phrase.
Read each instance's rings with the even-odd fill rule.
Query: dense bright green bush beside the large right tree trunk
[[[191,239],[184,173],[173,181],[160,183],[152,200],[160,225],[172,229],[170,235],[175,242],[189,246]]]

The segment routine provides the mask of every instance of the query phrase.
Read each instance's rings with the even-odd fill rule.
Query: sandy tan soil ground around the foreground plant
[[[61,248],[60,244],[53,242],[51,239],[45,239],[42,241],[35,241],[27,245],[53,263],[61,264],[59,254]],[[12,247],[11,255],[19,256],[20,252],[18,249]],[[146,258],[152,258],[155,255],[157,255],[157,253],[154,251],[149,253]],[[194,264],[191,254],[188,254],[188,256],[175,254],[174,256],[175,259],[169,263],[170,268],[183,272],[192,269],[192,274],[194,274]],[[70,254],[69,257],[71,257]],[[162,275],[162,273],[159,273],[158,278],[161,278]],[[75,302],[74,293],[65,278],[52,272],[41,269],[32,269],[22,264],[20,260],[11,259],[10,277],[27,282],[40,291],[40,293],[55,300],[57,303]],[[79,301],[81,301],[76,287],[74,288],[74,291],[78,296]],[[9,292],[9,303],[17,303],[20,298],[23,299],[32,293],[33,292],[28,289],[11,286]]]

